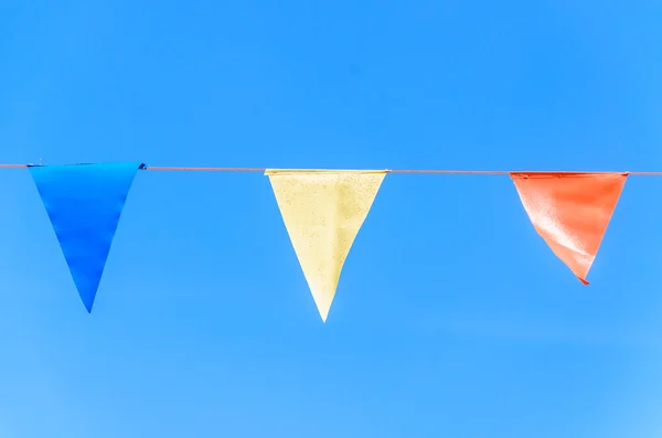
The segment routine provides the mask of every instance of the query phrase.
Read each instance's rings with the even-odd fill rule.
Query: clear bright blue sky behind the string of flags
[[[662,170],[659,1],[0,2],[0,161]],[[388,175],[322,324],[266,177],[140,172],[94,312],[0,171],[0,436],[659,437],[662,178],[583,287]],[[374,311],[373,311],[374,310]]]

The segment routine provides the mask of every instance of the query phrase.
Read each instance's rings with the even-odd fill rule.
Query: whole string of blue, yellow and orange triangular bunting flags
[[[94,300],[138,170],[248,170],[268,177],[318,311],[325,321],[344,261],[389,170],[148,168],[138,162],[21,165],[42,199],[85,309]],[[416,171],[399,171],[416,172]],[[510,174],[535,231],[585,285],[630,174],[655,172],[480,172]]]

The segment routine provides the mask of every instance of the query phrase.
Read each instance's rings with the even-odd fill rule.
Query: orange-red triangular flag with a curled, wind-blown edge
[[[592,265],[627,173],[511,173],[535,231],[588,285]]]

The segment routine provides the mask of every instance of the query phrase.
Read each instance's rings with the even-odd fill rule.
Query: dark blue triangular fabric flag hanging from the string
[[[140,163],[30,167],[78,295],[88,312]]]

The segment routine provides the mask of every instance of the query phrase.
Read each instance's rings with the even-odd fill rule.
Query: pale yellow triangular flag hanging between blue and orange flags
[[[324,322],[342,266],[386,173],[276,169],[265,172]]]

